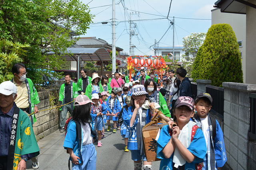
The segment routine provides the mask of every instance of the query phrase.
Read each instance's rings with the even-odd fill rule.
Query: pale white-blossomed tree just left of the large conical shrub
[[[182,55],[182,67],[186,69],[187,76],[191,77],[193,63],[199,47],[203,44],[206,33],[191,33],[183,38],[183,49],[185,55]]]

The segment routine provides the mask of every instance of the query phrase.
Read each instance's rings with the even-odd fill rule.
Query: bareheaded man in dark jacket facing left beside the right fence
[[[192,91],[191,91],[191,82],[188,79],[188,77],[185,77],[187,74],[187,71],[179,67],[176,70],[177,78],[180,80],[180,94],[179,96],[188,96],[191,97]]]

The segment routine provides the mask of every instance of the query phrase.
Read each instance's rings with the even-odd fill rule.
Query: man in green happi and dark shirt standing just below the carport
[[[79,80],[76,83],[76,86],[78,89],[78,93],[84,94],[86,87],[88,84],[91,83],[92,78],[86,75],[86,70],[84,68],[80,70],[80,74],[82,77],[79,78]]]

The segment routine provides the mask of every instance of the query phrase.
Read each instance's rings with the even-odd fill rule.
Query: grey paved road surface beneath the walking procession
[[[39,168],[38,170],[68,170],[69,154],[63,148],[64,133],[55,131],[38,141],[40,148]],[[105,132],[105,138],[102,139],[102,147],[97,147],[96,170],[133,170],[133,161],[131,152],[124,152],[124,140],[120,131],[112,133]],[[160,161],[153,162],[153,170],[158,170]],[[32,170],[31,160],[27,161],[27,169]]]

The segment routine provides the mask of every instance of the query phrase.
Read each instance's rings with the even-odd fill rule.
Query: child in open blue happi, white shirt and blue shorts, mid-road
[[[115,114],[113,115],[107,115],[107,122],[108,122],[108,129],[107,132],[110,131],[110,120],[114,122],[114,129],[113,133],[116,133],[116,121],[118,121],[118,113],[121,111],[122,107],[120,106],[119,101],[116,99],[116,94],[117,90],[113,89],[110,96],[108,97],[107,100],[107,105],[111,109],[112,113]]]

